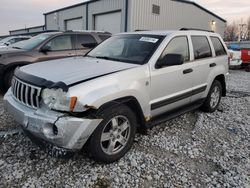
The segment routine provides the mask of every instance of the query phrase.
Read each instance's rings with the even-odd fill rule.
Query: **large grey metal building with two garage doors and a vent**
[[[200,28],[224,35],[226,20],[187,0],[89,0],[44,14],[47,30]]]

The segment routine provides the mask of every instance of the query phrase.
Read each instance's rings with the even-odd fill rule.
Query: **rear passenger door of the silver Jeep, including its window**
[[[206,97],[205,92],[210,87],[209,74],[216,62],[207,36],[191,36],[191,44],[193,46],[193,95],[191,102],[195,102]]]

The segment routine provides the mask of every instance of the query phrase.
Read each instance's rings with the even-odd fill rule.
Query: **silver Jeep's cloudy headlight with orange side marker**
[[[62,89],[44,89],[42,99],[50,109],[72,112],[75,108],[77,97],[69,97]]]

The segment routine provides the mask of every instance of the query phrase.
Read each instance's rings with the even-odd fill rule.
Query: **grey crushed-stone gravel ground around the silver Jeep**
[[[51,158],[23,134],[0,139],[0,187],[250,187],[250,73],[232,71],[218,111],[137,135],[120,161]],[[0,99],[1,100],[1,99]],[[0,129],[15,127],[2,110]]]

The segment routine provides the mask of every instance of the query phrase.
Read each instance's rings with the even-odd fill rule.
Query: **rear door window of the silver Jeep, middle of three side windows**
[[[212,57],[212,51],[205,36],[192,36],[194,59]]]

